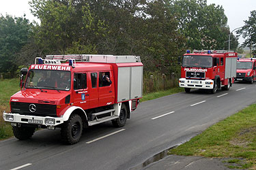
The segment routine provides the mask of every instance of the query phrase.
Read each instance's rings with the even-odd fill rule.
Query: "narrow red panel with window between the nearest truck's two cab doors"
[[[89,108],[98,107],[99,93],[98,93],[98,72],[90,72],[91,84],[89,85]]]

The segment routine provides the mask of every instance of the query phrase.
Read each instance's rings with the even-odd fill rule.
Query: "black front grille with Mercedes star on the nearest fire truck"
[[[29,105],[34,104],[35,112],[29,110]],[[22,114],[29,116],[52,116],[57,117],[56,105],[47,105],[41,103],[21,103],[11,102],[11,111],[14,114]]]

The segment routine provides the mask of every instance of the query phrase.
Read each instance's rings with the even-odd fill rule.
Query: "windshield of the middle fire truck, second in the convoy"
[[[183,67],[212,67],[212,56],[183,56]]]

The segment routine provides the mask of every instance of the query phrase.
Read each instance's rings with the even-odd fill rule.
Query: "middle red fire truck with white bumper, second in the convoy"
[[[236,77],[236,52],[223,50],[194,50],[184,54],[179,86],[186,92],[191,88],[209,89],[216,93],[218,88],[229,90]]]

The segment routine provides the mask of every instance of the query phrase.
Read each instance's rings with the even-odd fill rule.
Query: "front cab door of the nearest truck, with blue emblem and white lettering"
[[[73,79],[73,97],[74,105],[82,107],[83,109],[89,108],[89,93],[87,87],[87,73],[74,73]]]

